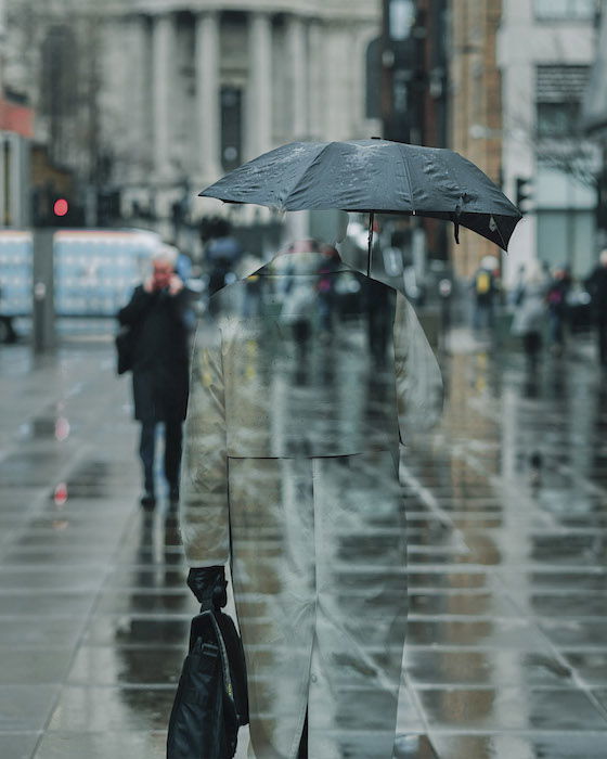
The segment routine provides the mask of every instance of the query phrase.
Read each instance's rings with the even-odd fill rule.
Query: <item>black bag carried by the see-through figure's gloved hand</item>
[[[167,735],[167,759],[232,759],[248,723],[243,644],[222,612],[192,620]]]

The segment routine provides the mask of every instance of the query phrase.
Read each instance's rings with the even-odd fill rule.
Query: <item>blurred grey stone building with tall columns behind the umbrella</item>
[[[169,218],[283,142],[378,131],[365,99],[375,2],[4,1],[8,76],[35,103],[53,166],[88,185],[89,217],[118,191],[127,215]]]

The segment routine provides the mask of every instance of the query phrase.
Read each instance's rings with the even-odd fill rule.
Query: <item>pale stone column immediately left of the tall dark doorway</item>
[[[219,14],[196,16],[196,144],[201,181],[214,182],[222,173],[221,114],[219,110]]]

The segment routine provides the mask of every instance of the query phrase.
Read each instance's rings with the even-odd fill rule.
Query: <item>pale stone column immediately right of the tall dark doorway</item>
[[[272,149],[272,18],[268,13],[249,16],[248,55],[250,85],[248,87],[247,158]]]

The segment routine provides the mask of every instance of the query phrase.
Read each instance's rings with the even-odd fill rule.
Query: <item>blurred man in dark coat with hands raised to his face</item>
[[[186,293],[175,273],[177,250],[164,246],[153,259],[152,275],[135,287],[130,303],[120,309],[120,324],[134,331],[134,417],[141,422],[139,453],[143,464],[141,504],[156,502],[154,449],[156,426],[165,425],[165,477],[169,500],[179,501],[182,423],[188,408],[189,348]]]

